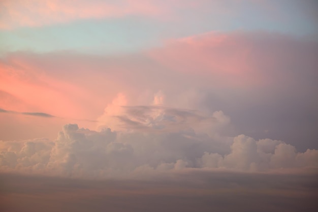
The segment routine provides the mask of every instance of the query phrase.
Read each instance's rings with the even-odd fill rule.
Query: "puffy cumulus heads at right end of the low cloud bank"
[[[274,144],[274,145],[273,145]],[[266,147],[267,148],[264,148]],[[264,151],[265,150],[265,151]],[[266,151],[270,150],[270,151]],[[314,158],[317,150],[307,150],[298,153],[292,145],[279,140],[260,139],[255,140],[246,135],[239,135],[233,139],[231,152],[225,156],[217,153],[207,153],[199,159],[203,167],[227,167],[238,170],[268,170],[276,168],[303,167],[301,157],[304,156],[310,162],[305,166],[316,166]],[[309,159],[310,158],[310,159]]]

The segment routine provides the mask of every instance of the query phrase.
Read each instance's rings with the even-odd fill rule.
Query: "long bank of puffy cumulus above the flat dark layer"
[[[67,124],[56,140],[2,141],[3,171],[112,178],[182,169],[273,171],[318,167],[318,150],[298,152],[280,140],[222,134],[230,118],[160,106],[122,107],[122,130]]]

